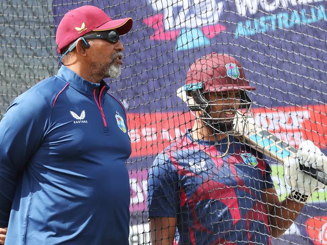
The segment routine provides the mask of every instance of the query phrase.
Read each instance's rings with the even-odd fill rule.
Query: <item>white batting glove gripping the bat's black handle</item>
[[[305,140],[299,147],[297,157],[284,162],[284,177],[291,189],[291,198],[305,203],[314,191],[324,188],[324,185],[301,171],[300,164],[326,173],[327,157],[312,141]]]

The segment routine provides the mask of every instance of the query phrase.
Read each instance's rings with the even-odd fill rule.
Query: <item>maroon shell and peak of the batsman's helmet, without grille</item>
[[[227,54],[211,53],[190,66],[185,86],[191,90],[199,88],[200,83],[203,92],[256,90],[249,86],[241,64]]]

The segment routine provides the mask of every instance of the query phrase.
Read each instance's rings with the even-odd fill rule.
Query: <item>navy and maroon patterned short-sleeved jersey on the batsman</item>
[[[190,134],[149,171],[149,218],[176,217],[178,244],[270,244],[262,195],[274,187],[263,155],[229,136],[218,145]]]

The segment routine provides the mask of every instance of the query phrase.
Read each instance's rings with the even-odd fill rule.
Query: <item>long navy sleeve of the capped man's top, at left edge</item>
[[[41,98],[41,99],[40,99]],[[17,176],[37,151],[49,109],[40,95],[18,97],[0,122],[0,227],[7,227]]]

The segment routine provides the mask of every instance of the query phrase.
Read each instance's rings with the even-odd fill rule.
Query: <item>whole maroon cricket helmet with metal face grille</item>
[[[193,111],[201,111],[200,115],[193,114],[213,130],[220,133],[234,133],[231,127],[233,124],[235,125],[235,122],[247,121],[247,118],[253,117],[250,110],[252,101],[246,93],[252,90],[255,90],[255,87],[249,86],[243,68],[235,58],[227,54],[211,53],[199,58],[190,66],[185,85],[177,90],[177,96],[187,104],[192,113]],[[209,101],[205,96],[205,93],[209,92],[226,91],[240,92],[240,98],[237,99],[239,100],[237,102],[238,107],[235,104],[228,104],[226,98],[222,99],[226,100],[224,103],[224,101]],[[215,105],[225,105],[226,110],[231,110],[234,107],[234,116],[213,117],[209,108]],[[228,127],[227,124],[229,124]]]

